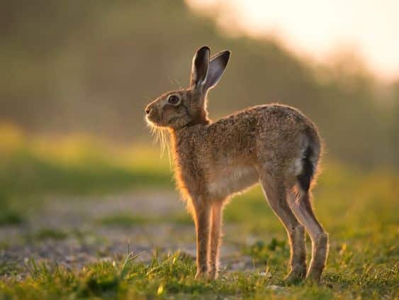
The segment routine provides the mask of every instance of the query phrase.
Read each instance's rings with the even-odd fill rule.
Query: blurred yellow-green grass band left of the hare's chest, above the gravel
[[[159,152],[158,147],[108,147],[79,135],[31,139],[0,124],[0,226],[25,221],[26,204],[38,207],[49,194],[172,189],[172,170]]]

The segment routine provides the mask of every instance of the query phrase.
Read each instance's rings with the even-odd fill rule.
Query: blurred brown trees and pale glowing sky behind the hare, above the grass
[[[398,4],[284,2],[6,1],[0,121],[28,135],[147,144],[143,108],[186,87],[193,53],[210,45],[232,51],[210,93],[212,118],[296,106],[320,127],[329,156],[398,170]]]

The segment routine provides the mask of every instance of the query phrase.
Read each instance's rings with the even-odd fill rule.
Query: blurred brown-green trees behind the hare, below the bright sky
[[[330,155],[399,168],[398,84],[382,92],[356,55],[314,67],[275,40],[220,33],[184,1],[0,6],[0,118],[26,130],[147,138],[145,104],[186,86],[194,51],[210,45],[232,50],[225,78],[210,92],[214,118],[255,104],[293,105],[319,124]]]

